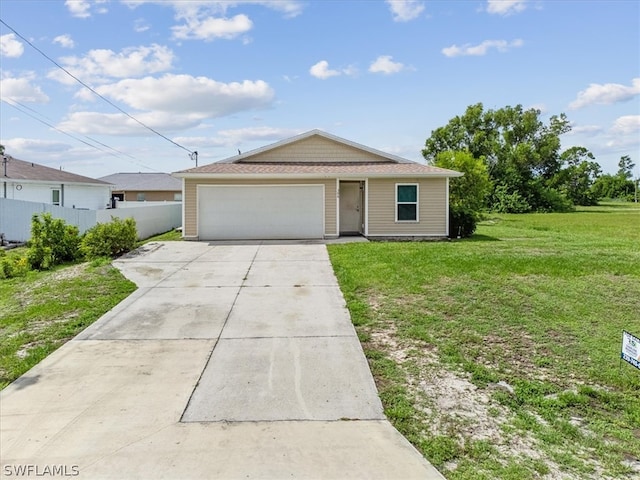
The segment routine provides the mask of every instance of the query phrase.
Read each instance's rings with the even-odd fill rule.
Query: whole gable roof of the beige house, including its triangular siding
[[[313,144],[309,143],[312,139],[315,140]],[[309,152],[301,152],[299,149],[296,155],[287,155],[287,149],[290,153],[294,144],[299,146],[308,144]],[[323,156],[322,148],[330,147],[331,144],[338,144],[344,155],[341,152],[339,156]],[[318,145],[321,145],[320,151]],[[453,170],[413,162],[321,130],[311,130],[225,160],[175,172],[174,175],[184,178],[211,175],[457,177],[462,174]]]

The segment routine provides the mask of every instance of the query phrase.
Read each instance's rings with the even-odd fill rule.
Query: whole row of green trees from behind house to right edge
[[[451,179],[452,208],[563,212],[603,198],[634,200],[638,179],[628,155],[615,175],[603,174],[588,149],[561,151],[560,136],[571,130],[564,113],[548,123],[540,113],[521,105],[485,110],[477,103],[431,132],[422,150],[427,162],[465,174]]]

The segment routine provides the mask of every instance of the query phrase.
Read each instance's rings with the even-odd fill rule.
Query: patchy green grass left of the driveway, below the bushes
[[[59,266],[0,280],[0,388],[136,289],[110,264]]]

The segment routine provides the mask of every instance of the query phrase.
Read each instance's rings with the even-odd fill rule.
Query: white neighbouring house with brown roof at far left
[[[111,184],[107,182],[10,155],[3,156],[0,173],[2,198],[90,210],[106,208],[111,198]]]

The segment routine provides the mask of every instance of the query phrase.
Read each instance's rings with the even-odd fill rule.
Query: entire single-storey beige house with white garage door
[[[319,130],[174,173],[193,240],[446,237],[461,175]]]

